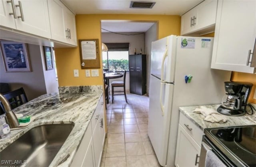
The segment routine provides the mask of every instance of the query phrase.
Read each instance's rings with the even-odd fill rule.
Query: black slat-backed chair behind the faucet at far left
[[[4,97],[9,101],[11,109],[14,109],[26,102],[28,102],[28,98],[23,87],[16,89],[14,91],[10,91],[8,93],[4,93]],[[1,108],[4,110],[2,103],[0,104]]]

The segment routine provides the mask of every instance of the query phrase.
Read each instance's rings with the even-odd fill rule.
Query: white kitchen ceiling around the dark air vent
[[[145,0],[139,0],[145,1]],[[131,0],[62,0],[75,14],[168,14],[181,15],[202,0],[146,0],[152,9],[130,8]]]

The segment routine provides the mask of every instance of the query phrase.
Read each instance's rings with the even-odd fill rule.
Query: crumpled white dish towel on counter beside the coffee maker
[[[206,108],[202,106],[201,108],[196,108],[193,112],[201,113],[205,116],[204,121],[208,121],[211,123],[225,123],[227,121],[224,115],[221,115],[215,109],[212,108]]]

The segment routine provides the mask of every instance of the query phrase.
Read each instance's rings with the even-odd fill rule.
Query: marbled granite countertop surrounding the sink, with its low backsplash
[[[0,139],[0,151],[38,125],[72,123],[74,128],[50,164],[70,166],[103,91],[102,86],[80,86],[60,87],[59,92],[41,95],[13,109],[35,120],[29,127],[12,130],[10,136]]]

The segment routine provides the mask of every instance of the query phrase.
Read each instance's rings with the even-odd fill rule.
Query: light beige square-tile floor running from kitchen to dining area
[[[149,98],[127,94],[127,99],[117,95],[107,105],[101,167],[160,167],[147,133]]]

